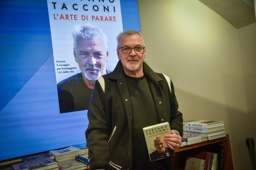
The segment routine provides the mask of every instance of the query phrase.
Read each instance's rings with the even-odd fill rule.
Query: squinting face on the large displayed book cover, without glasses
[[[74,57],[86,79],[96,81],[98,77],[106,74],[108,49],[100,35],[92,39],[78,40]]]

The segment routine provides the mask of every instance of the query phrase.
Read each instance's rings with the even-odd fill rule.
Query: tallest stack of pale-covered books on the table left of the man
[[[75,157],[79,154],[79,149],[67,147],[59,150],[51,150],[49,153],[54,156],[55,161],[61,163],[68,160],[75,160]]]

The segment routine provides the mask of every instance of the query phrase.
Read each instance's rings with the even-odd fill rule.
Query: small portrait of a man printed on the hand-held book
[[[170,151],[168,151],[168,148],[165,148],[165,141],[162,136],[154,138],[154,146],[156,150],[150,153],[150,160],[157,160],[170,156]]]

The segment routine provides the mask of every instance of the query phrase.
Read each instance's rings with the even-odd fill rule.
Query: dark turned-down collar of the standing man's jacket
[[[143,62],[143,73],[146,78],[148,78],[150,81],[159,82],[163,81],[144,61]],[[120,80],[125,76],[125,71],[123,68],[123,65],[121,63],[121,60],[118,61],[116,68],[110,73],[109,78]]]

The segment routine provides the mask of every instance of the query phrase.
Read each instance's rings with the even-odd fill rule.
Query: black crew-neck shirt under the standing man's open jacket
[[[154,169],[166,159],[150,162],[143,128],[158,124],[157,113],[146,78],[126,77],[132,103],[132,168]]]

